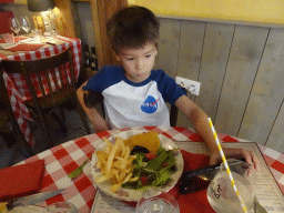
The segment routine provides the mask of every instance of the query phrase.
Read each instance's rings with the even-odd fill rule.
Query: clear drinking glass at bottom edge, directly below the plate
[[[158,196],[142,197],[135,209],[135,213],[180,213],[179,203],[170,193]]]

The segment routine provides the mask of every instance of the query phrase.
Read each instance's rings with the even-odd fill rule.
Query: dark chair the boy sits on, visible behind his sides
[[[186,92],[186,90],[184,90]],[[102,115],[105,118],[105,112],[104,112],[104,106],[103,106],[103,97],[99,92],[93,92],[93,91],[84,91],[83,94],[84,99],[84,104],[87,108],[94,108],[97,104],[101,104],[102,108]],[[170,110],[170,124],[171,126],[176,126],[178,122],[178,114],[179,114],[179,109],[176,108],[175,104],[171,105]]]

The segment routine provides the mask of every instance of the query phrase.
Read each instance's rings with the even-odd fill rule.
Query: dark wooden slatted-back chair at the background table
[[[84,116],[83,109],[81,108],[77,99],[77,80],[73,69],[72,51],[70,49],[64,52],[44,58],[39,60],[30,61],[2,61],[1,67],[1,78],[2,69],[7,73],[21,73],[28,84],[29,92],[32,99],[26,101],[26,104],[33,113],[36,113],[39,119],[49,141],[49,145],[53,146],[53,141],[51,136],[50,126],[47,122],[47,115],[53,115],[61,125],[61,129],[65,130],[62,120],[65,120],[63,109],[61,110],[62,120],[60,116],[53,113],[58,106],[62,106],[68,100],[75,101],[78,112],[81,116],[83,125],[87,132],[90,134],[87,119]],[[58,72],[57,72],[58,70]],[[67,78],[70,72],[71,78]],[[59,73],[59,74],[57,74]],[[38,79],[39,84],[34,85],[33,80]],[[53,84],[53,87],[52,87]],[[44,87],[45,85],[45,87]],[[52,92],[49,92],[49,91]]]

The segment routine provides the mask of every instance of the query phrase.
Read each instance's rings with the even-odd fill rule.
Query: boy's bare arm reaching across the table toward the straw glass
[[[210,164],[217,163],[217,161],[221,160],[221,155],[207,121],[209,116],[186,95],[179,98],[175,102],[175,105],[186,115],[186,118],[192,122],[194,130],[201,134],[201,136],[210,146]],[[246,151],[244,149],[222,149],[225,155],[231,158],[243,156],[248,164],[253,164],[256,170],[260,170],[260,161],[254,152]]]

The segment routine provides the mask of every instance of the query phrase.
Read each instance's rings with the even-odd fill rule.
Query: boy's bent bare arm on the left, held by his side
[[[87,105],[84,104],[84,91],[83,91],[83,87],[87,84],[87,82],[84,82],[78,90],[77,90],[77,97],[78,100],[80,102],[80,104],[82,105],[82,109],[84,110],[85,114],[88,115],[88,118],[90,119],[90,121],[92,122],[94,132],[102,132],[102,131],[108,131],[108,124],[105,122],[105,120],[100,115],[100,113],[97,111],[95,108],[87,108]]]

